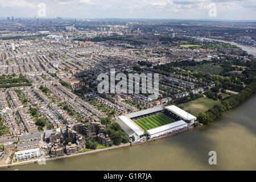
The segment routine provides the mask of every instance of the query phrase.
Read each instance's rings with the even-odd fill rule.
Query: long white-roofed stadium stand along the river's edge
[[[151,129],[151,130],[147,130],[147,134],[148,134],[148,137],[155,138],[155,137],[160,137],[161,135],[172,133],[174,131],[178,131],[185,127],[188,127],[188,123],[186,123],[183,120],[180,120],[167,125],[155,127],[154,129]]]

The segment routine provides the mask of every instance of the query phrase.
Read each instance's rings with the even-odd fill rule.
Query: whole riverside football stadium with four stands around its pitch
[[[121,115],[116,120],[122,130],[133,140],[141,137],[156,138],[188,129],[196,117],[175,105],[158,106]]]

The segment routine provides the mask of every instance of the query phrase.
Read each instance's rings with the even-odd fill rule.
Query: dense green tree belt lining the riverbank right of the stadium
[[[207,124],[209,122],[214,121],[217,118],[220,118],[225,111],[234,109],[238,106],[242,101],[246,98],[250,97],[252,94],[256,92],[256,82],[252,82],[247,85],[245,89],[243,89],[239,94],[232,95],[228,97],[226,100],[222,100],[221,104],[216,104],[208,111],[204,113],[200,113],[197,117],[197,120],[200,123]]]

